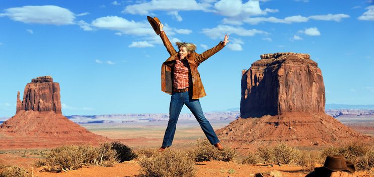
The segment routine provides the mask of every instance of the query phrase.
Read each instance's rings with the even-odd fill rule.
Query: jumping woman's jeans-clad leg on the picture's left
[[[165,130],[165,135],[164,135],[164,140],[163,140],[164,149],[168,146],[171,146],[173,143],[178,117],[183,107],[183,102],[181,100],[180,94],[181,93],[173,93],[172,98],[170,100],[169,122],[168,122],[168,127]]]

